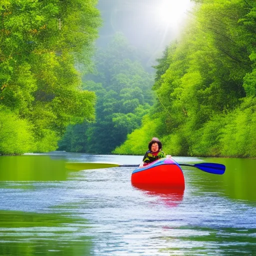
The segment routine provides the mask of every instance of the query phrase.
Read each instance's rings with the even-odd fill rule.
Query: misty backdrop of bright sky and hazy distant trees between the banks
[[[97,96],[95,122],[68,126],[59,150],[111,153],[141,126],[156,102],[155,65],[191,6],[190,0],[98,1],[102,26],[93,71],[83,76],[83,89]]]

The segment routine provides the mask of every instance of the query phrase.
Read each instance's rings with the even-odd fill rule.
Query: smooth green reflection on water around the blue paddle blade
[[[203,158],[203,160],[224,164],[226,166],[225,173],[216,175],[194,170],[194,173],[202,177],[201,180],[194,180],[194,185],[201,184],[204,189],[221,191],[232,199],[256,200],[256,159]]]

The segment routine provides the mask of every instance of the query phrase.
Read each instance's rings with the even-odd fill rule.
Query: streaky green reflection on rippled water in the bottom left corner
[[[86,228],[68,214],[0,211],[0,255],[91,255]]]

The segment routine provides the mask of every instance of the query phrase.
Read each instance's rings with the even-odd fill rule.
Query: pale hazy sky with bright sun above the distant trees
[[[190,0],[99,0],[101,43],[121,31],[137,47],[162,50],[177,35]]]

